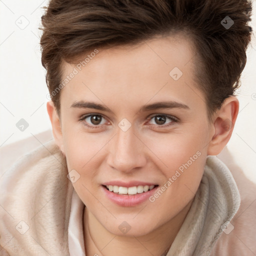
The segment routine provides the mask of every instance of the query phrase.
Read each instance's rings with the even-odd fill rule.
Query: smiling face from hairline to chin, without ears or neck
[[[84,67],[63,65],[64,78],[75,73],[60,95],[68,171],[114,234],[121,223],[129,235],[149,233],[194,197],[213,135],[194,55],[189,40],[168,36],[98,49]]]

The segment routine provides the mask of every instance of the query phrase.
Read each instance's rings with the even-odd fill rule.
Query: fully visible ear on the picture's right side
[[[213,119],[215,134],[208,143],[207,155],[217,155],[230,139],[239,110],[239,101],[235,96],[226,98]]]

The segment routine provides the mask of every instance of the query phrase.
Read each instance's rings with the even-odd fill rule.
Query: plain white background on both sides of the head
[[[46,111],[48,93],[40,62],[38,27],[47,0],[0,0],[0,148],[51,129]],[[256,4],[251,25],[256,30]],[[24,27],[27,25],[26,27]],[[238,90],[239,114],[228,150],[247,177],[256,182],[256,39],[247,50],[247,64]],[[253,93],[255,97],[253,99]],[[24,118],[29,126],[20,131]]]

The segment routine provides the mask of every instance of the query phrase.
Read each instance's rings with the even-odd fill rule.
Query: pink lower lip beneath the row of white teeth
[[[107,198],[121,206],[135,206],[144,202],[146,199],[148,199],[149,196],[151,196],[155,192],[157,187],[158,186],[155,186],[151,190],[148,190],[143,193],[122,195],[110,192],[105,186],[102,185],[103,191]]]

